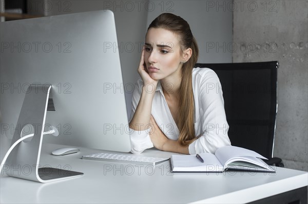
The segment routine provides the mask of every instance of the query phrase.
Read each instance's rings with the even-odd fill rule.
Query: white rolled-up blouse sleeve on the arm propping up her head
[[[135,88],[133,90],[132,94],[132,110],[131,110],[131,115],[129,121],[131,121],[134,112],[136,111],[136,108],[138,106],[140,97],[141,97],[141,87],[142,87],[142,79],[139,79],[135,85]],[[146,129],[146,130],[133,130],[129,128],[130,132],[130,143],[131,143],[131,150],[130,152],[133,154],[140,154],[142,153],[145,149],[152,148],[153,143],[151,142],[149,132],[151,128]]]

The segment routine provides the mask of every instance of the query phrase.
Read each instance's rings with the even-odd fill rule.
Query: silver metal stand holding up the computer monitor
[[[12,150],[5,165],[9,176],[49,183],[56,180],[83,175],[81,172],[56,168],[39,168],[45,119],[51,85],[30,85],[18,118],[16,127],[21,130],[27,125],[34,127],[33,137],[20,142]],[[22,131],[15,129],[12,145],[22,137]],[[30,140],[30,141],[28,141]]]

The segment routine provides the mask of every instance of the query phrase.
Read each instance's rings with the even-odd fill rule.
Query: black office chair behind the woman
[[[232,145],[254,150],[283,167],[273,157],[277,113],[278,61],[246,63],[197,63],[214,70],[222,85],[228,135]]]

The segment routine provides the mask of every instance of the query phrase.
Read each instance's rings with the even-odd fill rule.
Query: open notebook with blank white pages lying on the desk
[[[215,154],[200,153],[202,163],[194,155],[171,155],[172,172],[223,172],[228,169],[275,172],[261,158],[264,156],[255,151],[235,146],[224,146],[216,150]]]

